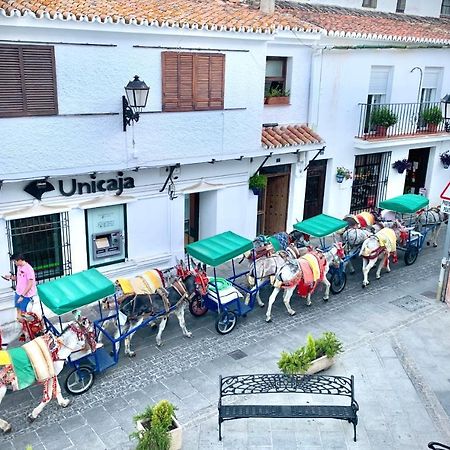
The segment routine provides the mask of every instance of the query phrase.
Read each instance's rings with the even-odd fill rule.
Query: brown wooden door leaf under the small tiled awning
[[[286,231],[289,174],[270,174],[265,192],[264,234]]]

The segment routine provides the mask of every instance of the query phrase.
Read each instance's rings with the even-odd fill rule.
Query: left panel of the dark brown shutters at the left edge
[[[0,117],[24,115],[20,50],[0,46]]]

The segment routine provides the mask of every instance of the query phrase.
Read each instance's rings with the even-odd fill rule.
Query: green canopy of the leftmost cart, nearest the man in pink
[[[39,298],[55,314],[64,314],[115,292],[111,280],[89,269],[38,285]]]

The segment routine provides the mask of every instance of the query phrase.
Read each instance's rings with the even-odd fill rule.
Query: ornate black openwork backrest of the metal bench
[[[351,378],[332,375],[233,375],[220,377],[220,397],[246,394],[331,394],[351,397],[353,400],[353,375]]]

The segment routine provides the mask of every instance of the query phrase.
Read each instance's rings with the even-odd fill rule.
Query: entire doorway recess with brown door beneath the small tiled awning
[[[271,235],[286,230],[290,166],[265,167],[267,186],[258,198],[257,234]]]

